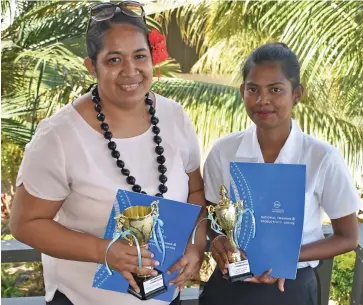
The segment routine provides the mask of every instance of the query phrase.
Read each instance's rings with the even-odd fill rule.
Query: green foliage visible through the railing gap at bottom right
[[[354,251],[334,258],[330,298],[339,305],[349,305],[353,286]]]

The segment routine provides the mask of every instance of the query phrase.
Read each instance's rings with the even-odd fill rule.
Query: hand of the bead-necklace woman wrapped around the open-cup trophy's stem
[[[147,266],[159,266],[159,262],[152,259],[153,256],[147,248],[142,248],[141,257],[143,267],[140,268],[136,247],[130,246],[127,241],[118,240],[108,250],[107,263],[111,269],[120,272],[136,292],[140,292],[140,288],[132,274],[157,275],[157,271],[146,268]]]

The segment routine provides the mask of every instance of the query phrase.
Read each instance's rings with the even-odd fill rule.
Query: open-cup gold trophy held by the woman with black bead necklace
[[[129,241],[130,246],[137,246],[140,267],[140,248],[145,248],[149,239],[152,237],[155,216],[159,216],[159,201],[152,202],[149,207],[141,205],[131,206],[116,217],[118,230],[121,232],[124,227],[133,234],[133,237],[129,235],[124,238]],[[134,238],[137,239],[138,244]],[[145,267],[153,269],[152,266]],[[128,292],[140,300],[148,300],[165,292],[167,287],[164,284],[163,273],[157,269],[155,270],[158,272],[156,276],[133,274],[136,283],[140,287],[140,293],[137,293],[131,286],[129,286]]]

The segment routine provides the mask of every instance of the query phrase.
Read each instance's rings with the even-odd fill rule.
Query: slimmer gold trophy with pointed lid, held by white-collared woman
[[[243,201],[238,200],[235,204],[227,197],[227,189],[224,185],[219,190],[220,201],[215,206],[208,206],[208,214],[225,232],[227,239],[235,249],[232,253],[227,253],[229,265],[228,274],[224,278],[231,282],[242,281],[252,277],[250,265],[247,259],[242,259],[234,238],[234,230],[238,225],[237,220],[243,212]],[[215,216],[213,214],[215,213]]]

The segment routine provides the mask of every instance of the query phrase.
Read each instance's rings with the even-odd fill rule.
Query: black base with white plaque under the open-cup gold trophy
[[[140,293],[137,293],[131,286],[129,286],[129,289],[127,290],[128,293],[140,300],[149,300],[164,293],[167,290],[167,286],[164,283],[163,273],[157,269],[154,270],[158,272],[158,275],[147,278],[134,275],[134,279],[140,287]]]

